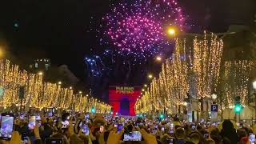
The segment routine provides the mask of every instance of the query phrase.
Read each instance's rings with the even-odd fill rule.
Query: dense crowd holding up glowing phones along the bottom
[[[255,142],[250,126],[223,122],[180,122],[177,117],[130,117],[111,114],[62,114],[49,116],[16,114],[10,144],[250,144]],[[2,116],[3,117],[3,116]],[[32,122],[32,123],[31,123]],[[8,136],[8,135],[7,135]]]

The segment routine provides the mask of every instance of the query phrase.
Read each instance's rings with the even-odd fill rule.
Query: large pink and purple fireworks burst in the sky
[[[102,18],[108,43],[130,54],[152,55],[170,45],[168,26],[182,30],[185,18],[175,0],[132,0],[113,5]]]

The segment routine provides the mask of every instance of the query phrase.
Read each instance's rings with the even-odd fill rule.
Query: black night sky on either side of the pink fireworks
[[[179,5],[195,26],[222,32],[228,26],[249,24],[255,0],[180,0]],[[107,0],[2,0],[0,36],[8,49],[22,62],[47,57],[56,66],[66,64],[78,78],[85,79],[83,58],[101,52],[95,34],[89,32],[94,21],[110,9]],[[114,2],[117,2],[115,0]],[[97,26],[93,26],[97,27]]]

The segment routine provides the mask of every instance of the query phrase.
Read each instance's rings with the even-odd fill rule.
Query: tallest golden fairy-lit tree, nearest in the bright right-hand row
[[[210,39],[210,41],[208,40]],[[223,51],[222,39],[205,34],[203,40],[194,38],[192,71],[195,74],[196,93],[199,98],[210,96],[216,91]]]

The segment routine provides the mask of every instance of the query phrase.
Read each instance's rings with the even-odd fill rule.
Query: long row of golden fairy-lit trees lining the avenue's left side
[[[111,107],[102,102],[92,102],[93,98],[86,95],[74,94],[74,90],[64,88],[60,82],[43,82],[43,74],[29,74],[26,70],[20,70],[17,65],[12,65],[8,60],[0,60],[0,87],[3,95],[1,107],[12,106],[20,103],[18,90],[25,87],[23,106],[38,109],[56,107],[70,110],[89,111],[95,106],[98,112],[110,111]],[[88,106],[90,104],[90,106]]]

